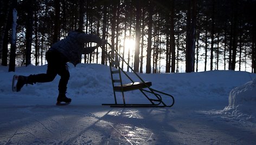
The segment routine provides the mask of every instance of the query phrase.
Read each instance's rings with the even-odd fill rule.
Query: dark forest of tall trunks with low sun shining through
[[[51,45],[82,28],[111,47],[81,63],[107,65],[103,51],[117,50],[139,73],[256,73],[255,8],[255,0],[1,0],[0,63],[47,64]]]

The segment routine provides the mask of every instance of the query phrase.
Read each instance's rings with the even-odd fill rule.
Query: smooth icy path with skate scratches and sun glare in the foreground
[[[222,101],[177,101],[173,108],[110,108],[80,101],[59,107],[41,102],[1,103],[0,144],[256,143],[255,124],[201,113],[221,109],[226,103]]]

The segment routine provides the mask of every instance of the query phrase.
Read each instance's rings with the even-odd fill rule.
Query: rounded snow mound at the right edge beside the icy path
[[[244,85],[231,90],[228,98],[228,106],[222,113],[233,117],[246,118],[247,121],[255,121],[256,117],[256,78]]]

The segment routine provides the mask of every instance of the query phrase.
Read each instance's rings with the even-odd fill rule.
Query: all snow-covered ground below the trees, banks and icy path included
[[[14,74],[44,73],[47,65],[0,67],[0,144],[256,144],[256,74],[140,74],[173,95],[174,106],[110,108],[101,106],[114,103],[109,68],[69,66],[68,106],[55,106],[59,76],[11,91]],[[144,102],[138,91],[126,100]]]

